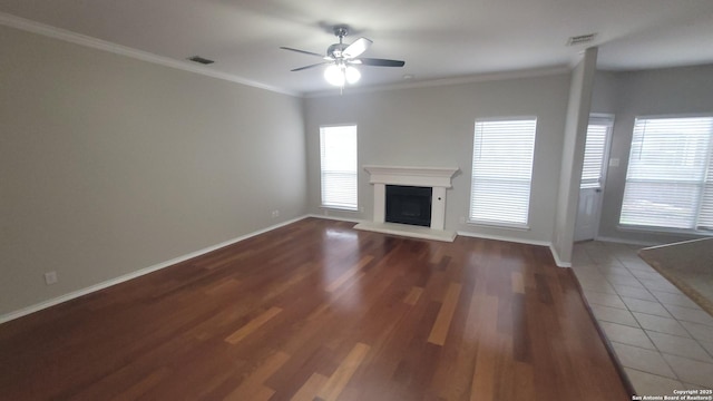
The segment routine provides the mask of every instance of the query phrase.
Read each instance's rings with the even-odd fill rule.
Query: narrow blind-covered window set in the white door
[[[590,117],[587,127],[587,140],[584,149],[584,165],[582,166],[582,189],[598,189],[602,187],[604,157],[606,156],[607,138],[614,121],[612,117]]]

